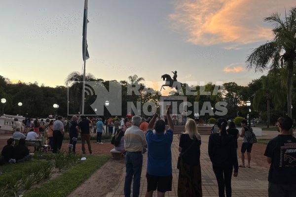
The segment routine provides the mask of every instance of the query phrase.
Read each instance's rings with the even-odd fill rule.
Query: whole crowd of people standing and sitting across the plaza
[[[124,183],[124,195],[131,196],[131,184],[133,182],[132,195],[138,197],[140,194],[141,173],[143,166],[143,154],[148,151],[147,156],[147,192],[146,197],[152,197],[157,190],[158,197],[164,197],[167,191],[172,190],[172,153],[174,124],[166,111],[166,121],[154,114],[152,119],[146,120],[140,116],[133,116],[131,121],[127,118],[106,121],[108,132],[105,131],[102,118],[88,119],[85,116],[73,116],[69,124],[70,143],[73,144],[72,151],[75,152],[75,144],[80,132],[82,142],[82,153],[86,154],[85,142],[90,155],[93,155],[90,143],[90,133],[97,134],[97,143],[103,144],[102,133],[114,136],[111,143],[115,150],[125,154],[126,175]],[[28,121],[30,121],[28,119]],[[36,120],[35,120],[36,121]],[[15,132],[13,138],[7,140],[7,145],[2,148],[1,155],[6,162],[15,159],[17,162],[27,161],[32,158],[28,148],[25,146],[25,138],[36,139],[42,135],[48,140],[53,153],[61,149],[65,132],[65,120],[57,117],[57,120],[46,119],[41,124],[31,124],[29,132],[22,132],[22,125],[15,119]],[[37,120],[38,121],[38,120]],[[24,125],[29,125],[26,122]],[[168,125],[168,130],[165,130]],[[239,167],[251,168],[251,151],[253,143],[248,138],[252,128],[247,121],[241,122],[241,134],[233,122],[219,118],[216,122],[217,131],[209,137],[208,154],[215,173],[219,197],[231,197],[231,178],[238,176]],[[291,133],[293,121],[289,117],[280,117],[277,127],[279,135],[268,143],[264,155],[270,164],[268,174],[268,194],[270,197],[295,197],[296,196],[296,138]],[[43,130],[43,134],[40,134]],[[25,131],[25,130],[24,130]],[[41,131],[42,132],[42,131]],[[178,197],[202,197],[202,171],[200,166],[201,136],[197,131],[196,121],[186,119],[185,132],[177,135],[179,138],[179,160],[178,160]],[[241,146],[241,164],[237,159],[237,139],[243,137]],[[19,139],[14,146],[15,139]],[[245,152],[247,161],[245,164]],[[290,177],[290,178],[289,178]]]

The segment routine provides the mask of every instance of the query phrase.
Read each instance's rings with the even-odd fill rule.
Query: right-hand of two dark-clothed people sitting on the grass
[[[17,162],[25,162],[31,160],[31,158],[34,156],[34,153],[29,154],[29,149],[26,146],[26,140],[21,138],[19,144],[13,149],[13,156]]]

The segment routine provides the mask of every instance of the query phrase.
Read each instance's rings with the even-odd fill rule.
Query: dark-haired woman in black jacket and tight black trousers
[[[232,135],[226,133],[227,121],[219,118],[217,121],[218,133],[212,133],[209,138],[209,156],[213,164],[213,170],[219,187],[219,197],[231,197],[231,175],[238,174],[238,161],[236,143]]]

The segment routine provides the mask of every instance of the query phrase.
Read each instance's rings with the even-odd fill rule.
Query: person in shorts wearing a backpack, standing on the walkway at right
[[[248,122],[246,120],[242,120],[241,122],[241,126],[242,126],[242,132],[240,134],[240,136],[243,138],[243,143],[242,143],[242,148],[241,148],[241,153],[242,153],[242,164],[240,164],[240,167],[246,167],[245,165],[245,152],[247,151],[247,157],[248,157],[248,168],[251,168],[251,151],[252,151],[252,146],[253,144],[250,143],[247,139],[247,135],[249,134],[249,132],[251,132],[250,130],[252,130],[251,127],[248,127]]]

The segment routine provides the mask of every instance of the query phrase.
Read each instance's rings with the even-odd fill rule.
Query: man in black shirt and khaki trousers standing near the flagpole
[[[85,116],[81,116],[81,121],[78,123],[77,128],[80,130],[81,136],[81,146],[82,146],[82,153],[85,154],[85,141],[88,146],[88,151],[90,155],[93,155],[90,145],[90,133],[89,133],[89,124],[91,124],[90,120],[86,119]]]

